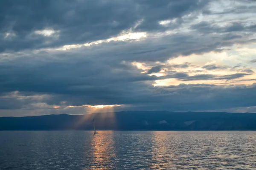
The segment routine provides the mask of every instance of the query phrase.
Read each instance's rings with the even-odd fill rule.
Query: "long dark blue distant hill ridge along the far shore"
[[[256,113],[127,111],[0,117],[0,130],[256,130]]]

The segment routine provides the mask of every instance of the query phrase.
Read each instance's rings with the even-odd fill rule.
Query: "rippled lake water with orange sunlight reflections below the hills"
[[[256,131],[0,131],[0,170],[256,169]]]

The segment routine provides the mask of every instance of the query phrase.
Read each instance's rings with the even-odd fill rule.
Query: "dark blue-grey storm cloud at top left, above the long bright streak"
[[[133,28],[160,31],[161,20],[182,17],[208,0],[8,0],[0,6],[0,51],[103,40]],[[178,24],[179,25],[179,24]],[[35,34],[52,28],[55,36]]]

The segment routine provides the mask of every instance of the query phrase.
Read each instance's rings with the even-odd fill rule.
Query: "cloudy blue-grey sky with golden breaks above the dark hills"
[[[256,0],[6,0],[0,116],[256,112]]]

